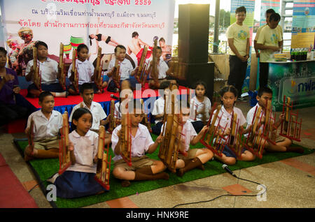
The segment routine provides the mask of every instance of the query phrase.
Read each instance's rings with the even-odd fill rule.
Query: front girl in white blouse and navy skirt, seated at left
[[[78,108],[73,113],[69,133],[69,150],[72,165],[62,175],[52,175],[48,182],[57,187],[59,198],[80,198],[87,195],[104,193],[106,189],[95,179],[97,169],[97,146],[99,135],[90,131],[92,113]]]

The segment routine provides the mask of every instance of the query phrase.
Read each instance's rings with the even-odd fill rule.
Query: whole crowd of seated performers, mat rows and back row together
[[[88,61],[88,47],[84,44],[78,45],[76,59],[76,70],[78,73],[78,92],[75,89],[73,80],[74,74],[72,71],[72,64],[69,67],[69,80],[66,84],[66,91],[61,87],[58,80],[62,76],[61,68],[56,61],[48,58],[48,46],[38,41],[34,46],[37,49],[37,59],[39,71],[41,73],[41,90],[36,87],[34,83],[28,87],[28,95],[31,97],[38,97],[41,110],[33,112],[29,115],[27,121],[27,128],[25,133],[34,135],[33,144],[25,149],[25,161],[30,161],[33,158],[58,158],[59,157],[59,132],[62,128],[62,114],[53,110],[55,105],[54,97],[67,96],[68,94],[80,94],[83,101],[74,106],[69,116],[71,122],[72,132],[69,134],[69,151],[71,154],[72,165],[66,171],[59,175],[56,173],[48,179],[48,182],[57,186],[57,196],[62,198],[77,198],[85,195],[93,195],[103,193],[106,191],[101,185],[94,180],[96,173],[97,162],[97,145],[99,140],[99,126],[106,126],[112,118],[116,118],[118,126],[113,131],[106,131],[104,144],[110,145],[115,157],[113,176],[121,180],[122,186],[130,186],[130,181],[148,180],[148,179],[169,179],[169,174],[164,172],[167,169],[165,163],[160,160],[148,158],[146,153],[152,154],[158,149],[160,143],[165,139],[163,129],[165,128],[166,114],[165,100],[172,94],[171,89],[174,89],[176,80],[167,80],[167,75],[171,75],[171,68],[168,68],[165,61],[163,61],[161,54],[162,50],[157,47],[156,57],[158,68],[158,82],[156,76],[153,80],[152,75],[149,76],[149,86],[151,88],[160,89],[164,94],[158,98],[152,108],[152,116],[155,119],[155,124],[152,126],[152,132],[158,135],[158,138],[153,141],[150,131],[147,126],[141,124],[141,121],[146,118],[144,114],[144,105],[141,105],[139,100],[134,100],[133,90],[135,88],[136,79],[134,75],[138,72],[138,67],[133,68],[131,62],[125,58],[126,49],[123,45],[117,45],[115,48],[116,57],[109,63],[109,71],[107,79],[104,80],[102,88],[107,87],[108,91],[120,92],[120,101],[115,105],[114,116],[107,115],[104,108],[99,103],[93,101],[94,94],[99,92],[99,87],[94,83],[97,68],[94,68],[92,63]],[[0,47],[0,110],[1,115],[5,121],[13,118],[11,116],[25,116],[27,110],[18,108],[15,104],[15,95],[19,94],[20,87],[18,87],[18,78],[16,73],[6,68],[6,50]],[[119,82],[113,80],[114,72],[117,71],[115,65],[116,60],[120,65]],[[148,60],[152,66],[152,58]],[[149,68],[150,70],[150,68]],[[29,61],[26,69],[26,79],[34,81],[34,67],[33,61]],[[72,82],[72,83],[71,83]],[[178,86],[177,86],[178,87]],[[127,96],[122,96],[123,90],[127,89]],[[209,131],[207,123],[212,121],[210,119],[211,101],[206,96],[207,85],[204,82],[196,82],[195,96],[190,98],[190,101],[175,98],[175,103],[181,104],[179,114],[182,119],[181,130],[181,151],[187,155],[179,154],[176,160],[176,175],[183,177],[183,175],[194,168],[204,170],[204,163],[213,158],[218,159],[228,165],[233,165],[237,161],[237,156],[227,145],[223,149],[222,156],[214,154],[210,149],[190,149],[190,145],[196,145],[202,140],[205,133]],[[126,93],[124,94],[126,95]],[[272,90],[267,87],[262,87],[258,91],[257,105],[247,113],[247,117],[239,108],[235,107],[237,101],[238,91],[235,87],[229,85],[225,86],[220,91],[221,96],[221,110],[218,113],[220,117],[220,124],[218,119],[214,126],[218,126],[218,130],[222,131],[223,140],[228,140],[231,133],[231,128],[224,126],[231,126],[232,115],[237,114],[237,122],[241,126],[241,133],[246,137],[247,133],[251,131],[252,119],[254,117],[255,108],[261,107],[261,115],[265,117],[267,101],[272,100]],[[127,99],[127,101],[125,101]],[[131,120],[131,156],[132,165],[128,165],[122,158],[121,150],[121,119],[122,107],[126,102],[132,102],[130,107],[133,112],[130,113]],[[186,106],[182,104],[186,103]],[[129,107],[129,108],[130,108]],[[12,112],[11,112],[12,110]],[[2,115],[3,112],[3,115]],[[9,116],[10,115],[10,116]],[[263,119],[263,118],[262,118]],[[283,121],[284,116],[281,114],[279,121],[274,126],[278,128]],[[31,120],[34,121],[34,127],[31,132]],[[263,121],[262,121],[263,124]],[[263,126],[259,126],[262,128]],[[267,141],[265,149],[267,151],[293,151],[302,153],[303,149],[300,147],[291,147],[292,141],[288,138],[278,136],[276,143]],[[241,151],[242,161],[253,161],[255,156],[251,151],[245,148]]]

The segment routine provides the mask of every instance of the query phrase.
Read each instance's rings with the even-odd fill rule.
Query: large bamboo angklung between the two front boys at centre
[[[165,101],[167,98],[165,99]],[[159,150],[160,160],[167,166],[171,172],[176,172],[176,161],[181,147],[181,131],[183,130],[183,121],[180,114],[175,114],[175,95],[172,94],[172,113],[164,113],[166,123],[163,124],[162,135],[165,139],[162,140]],[[166,110],[166,109],[165,109]],[[184,152],[184,150],[182,151]]]

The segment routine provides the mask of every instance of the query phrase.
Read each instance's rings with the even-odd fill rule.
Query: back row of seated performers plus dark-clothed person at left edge
[[[118,60],[119,75],[121,84],[124,80],[130,82],[132,90],[136,88],[137,80],[134,75],[138,72],[139,67],[134,68],[130,60],[126,59],[126,48],[123,45],[117,45],[114,52],[115,57],[111,59],[109,63],[108,71],[105,72],[106,75],[103,77],[103,83],[101,88],[95,84],[94,80],[96,78],[96,73],[98,72],[97,68],[94,68],[92,62],[89,59],[89,49],[87,45],[80,44],[76,49],[76,71],[78,73],[78,89],[75,88],[74,75],[72,71],[72,64],[70,64],[67,71],[67,75],[64,76],[65,89],[62,87],[61,78],[62,78],[62,68],[59,66],[57,61],[50,59],[48,57],[48,45],[43,41],[36,41],[34,45],[36,48],[37,54],[37,66],[38,66],[38,75],[40,76],[40,87],[34,83],[34,77],[36,77],[34,71],[34,59],[28,62],[27,68],[25,71],[25,80],[30,82],[29,87],[27,88],[27,97],[38,98],[42,91],[49,91],[54,97],[67,97],[69,95],[77,95],[81,93],[81,86],[84,83],[90,83],[94,93],[100,93],[103,89],[107,87],[107,91],[118,92],[120,91],[119,87],[116,86],[115,81],[113,81],[113,72],[116,72],[116,60]],[[171,77],[171,68],[168,68],[165,61],[162,57],[162,49],[157,47],[155,56],[157,57],[157,68],[158,68],[158,83],[155,83],[151,78],[151,73],[148,73],[148,84],[152,89],[157,89],[160,86],[162,81],[167,79],[167,75]],[[152,57],[147,59],[147,63],[152,65]],[[6,68],[7,61],[7,51],[1,47],[0,48],[0,119],[1,125],[7,124],[10,121],[15,119],[26,118],[29,116],[27,110],[27,105],[23,104],[25,99],[20,96],[20,87],[18,82],[18,76],[15,71],[10,68]],[[148,68],[151,70],[151,68]],[[64,75],[66,73],[63,73]]]

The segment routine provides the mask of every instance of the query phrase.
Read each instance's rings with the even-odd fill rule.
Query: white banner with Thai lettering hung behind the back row
[[[174,7],[174,0],[1,0],[1,45],[10,52],[8,38],[23,44],[18,31],[29,27],[33,40],[47,43],[48,53],[57,57],[60,43],[85,43],[90,61],[97,56],[97,43],[103,54],[113,53],[119,44],[137,61],[139,46],[153,46],[155,36],[172,45]],[[134,32],[139,34],[137,39],[132,38]],[[92,38],[90,45],[89,36],[97,34],[102,34],[97,37],[100,41]]]

